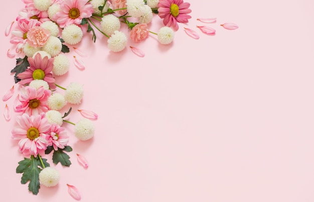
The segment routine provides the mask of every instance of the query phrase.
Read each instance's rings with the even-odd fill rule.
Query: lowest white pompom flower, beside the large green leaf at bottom
[[[60,172],[54,167],[45,167],[39,173],[39,181],[45,186],[55,186],[60,181]]]

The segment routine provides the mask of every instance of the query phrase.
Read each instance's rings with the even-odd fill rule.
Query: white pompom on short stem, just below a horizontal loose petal
[[[95,126],[93,122],[87,118],[79,120],[74,127],[74,134],[80,140],[87,140],[94,136]]]

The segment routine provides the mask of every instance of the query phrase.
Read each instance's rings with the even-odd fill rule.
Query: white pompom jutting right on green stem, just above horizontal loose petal
[[[79,104],[84,95],[83,85],[72,82],[67,86],[65,90],[64,98],[71,104]]]

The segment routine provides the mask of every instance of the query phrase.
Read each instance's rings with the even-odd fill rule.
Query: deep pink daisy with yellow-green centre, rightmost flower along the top
[[[160,0],[158,3],[158,15],[164,18],[164,24],[172,27],[175,31],[179,29],[178,22],[186,23],[191,18],[190,3],[183,0]]]

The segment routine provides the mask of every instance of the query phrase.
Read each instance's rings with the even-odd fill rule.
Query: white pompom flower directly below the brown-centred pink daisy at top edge
[[[76,24],[70,24],[62,30],[63,40],[70,45],[79,43],[82,40],[82,37],[83,31],[81,27]]]

